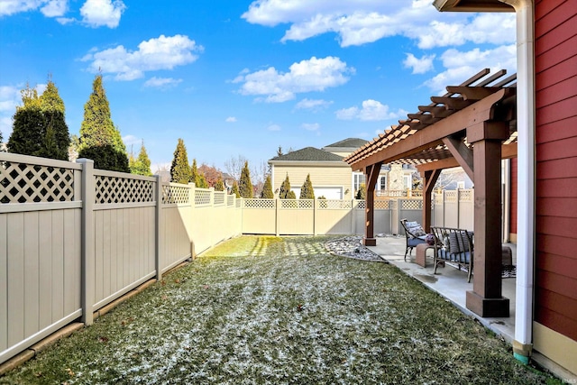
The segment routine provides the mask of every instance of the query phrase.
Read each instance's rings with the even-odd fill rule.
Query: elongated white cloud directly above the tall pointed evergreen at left
[[[126,50],[119,45],[107,50],[91,50],[83,61],[91,61],[89,70],[115,74],[116,80],[133,80],[142,78],[145,71],[173,69],[198,59],[194,52],[204,48],[197,45],[188,36],[160,35],[157,39],[142,41],[138,50]]]

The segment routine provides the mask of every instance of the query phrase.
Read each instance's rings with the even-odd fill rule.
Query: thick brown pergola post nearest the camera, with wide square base
[[[508,124],[486,121],[467,128],[474,161],[474,274],[466,306],[479,316],[509,316],[501,287],[501,142]]]

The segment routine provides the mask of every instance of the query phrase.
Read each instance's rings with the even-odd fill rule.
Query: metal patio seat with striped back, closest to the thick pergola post
[[[435,238],[435,270],[445,262],[467,271],[467,282],[471,282],[473,261],[473,234],[464,229],[431,227]]]

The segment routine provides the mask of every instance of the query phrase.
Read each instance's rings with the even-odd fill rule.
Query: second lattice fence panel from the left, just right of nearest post
[[[96,204],[154,202],[154,182],[95,176]]]

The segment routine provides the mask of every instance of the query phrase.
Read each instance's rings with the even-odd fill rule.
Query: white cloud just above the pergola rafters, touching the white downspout
[[[515,44],[511,44],[497,47],[494,50],[475,48],[460,51],[450,49],[444,51],[441,60],[445,70],[425,83],[437,95],[444,95],[446,86],[457,86],[481,69],[491,69],[491,71],[507,69],[509,73],[515,73],[517,47]]]

